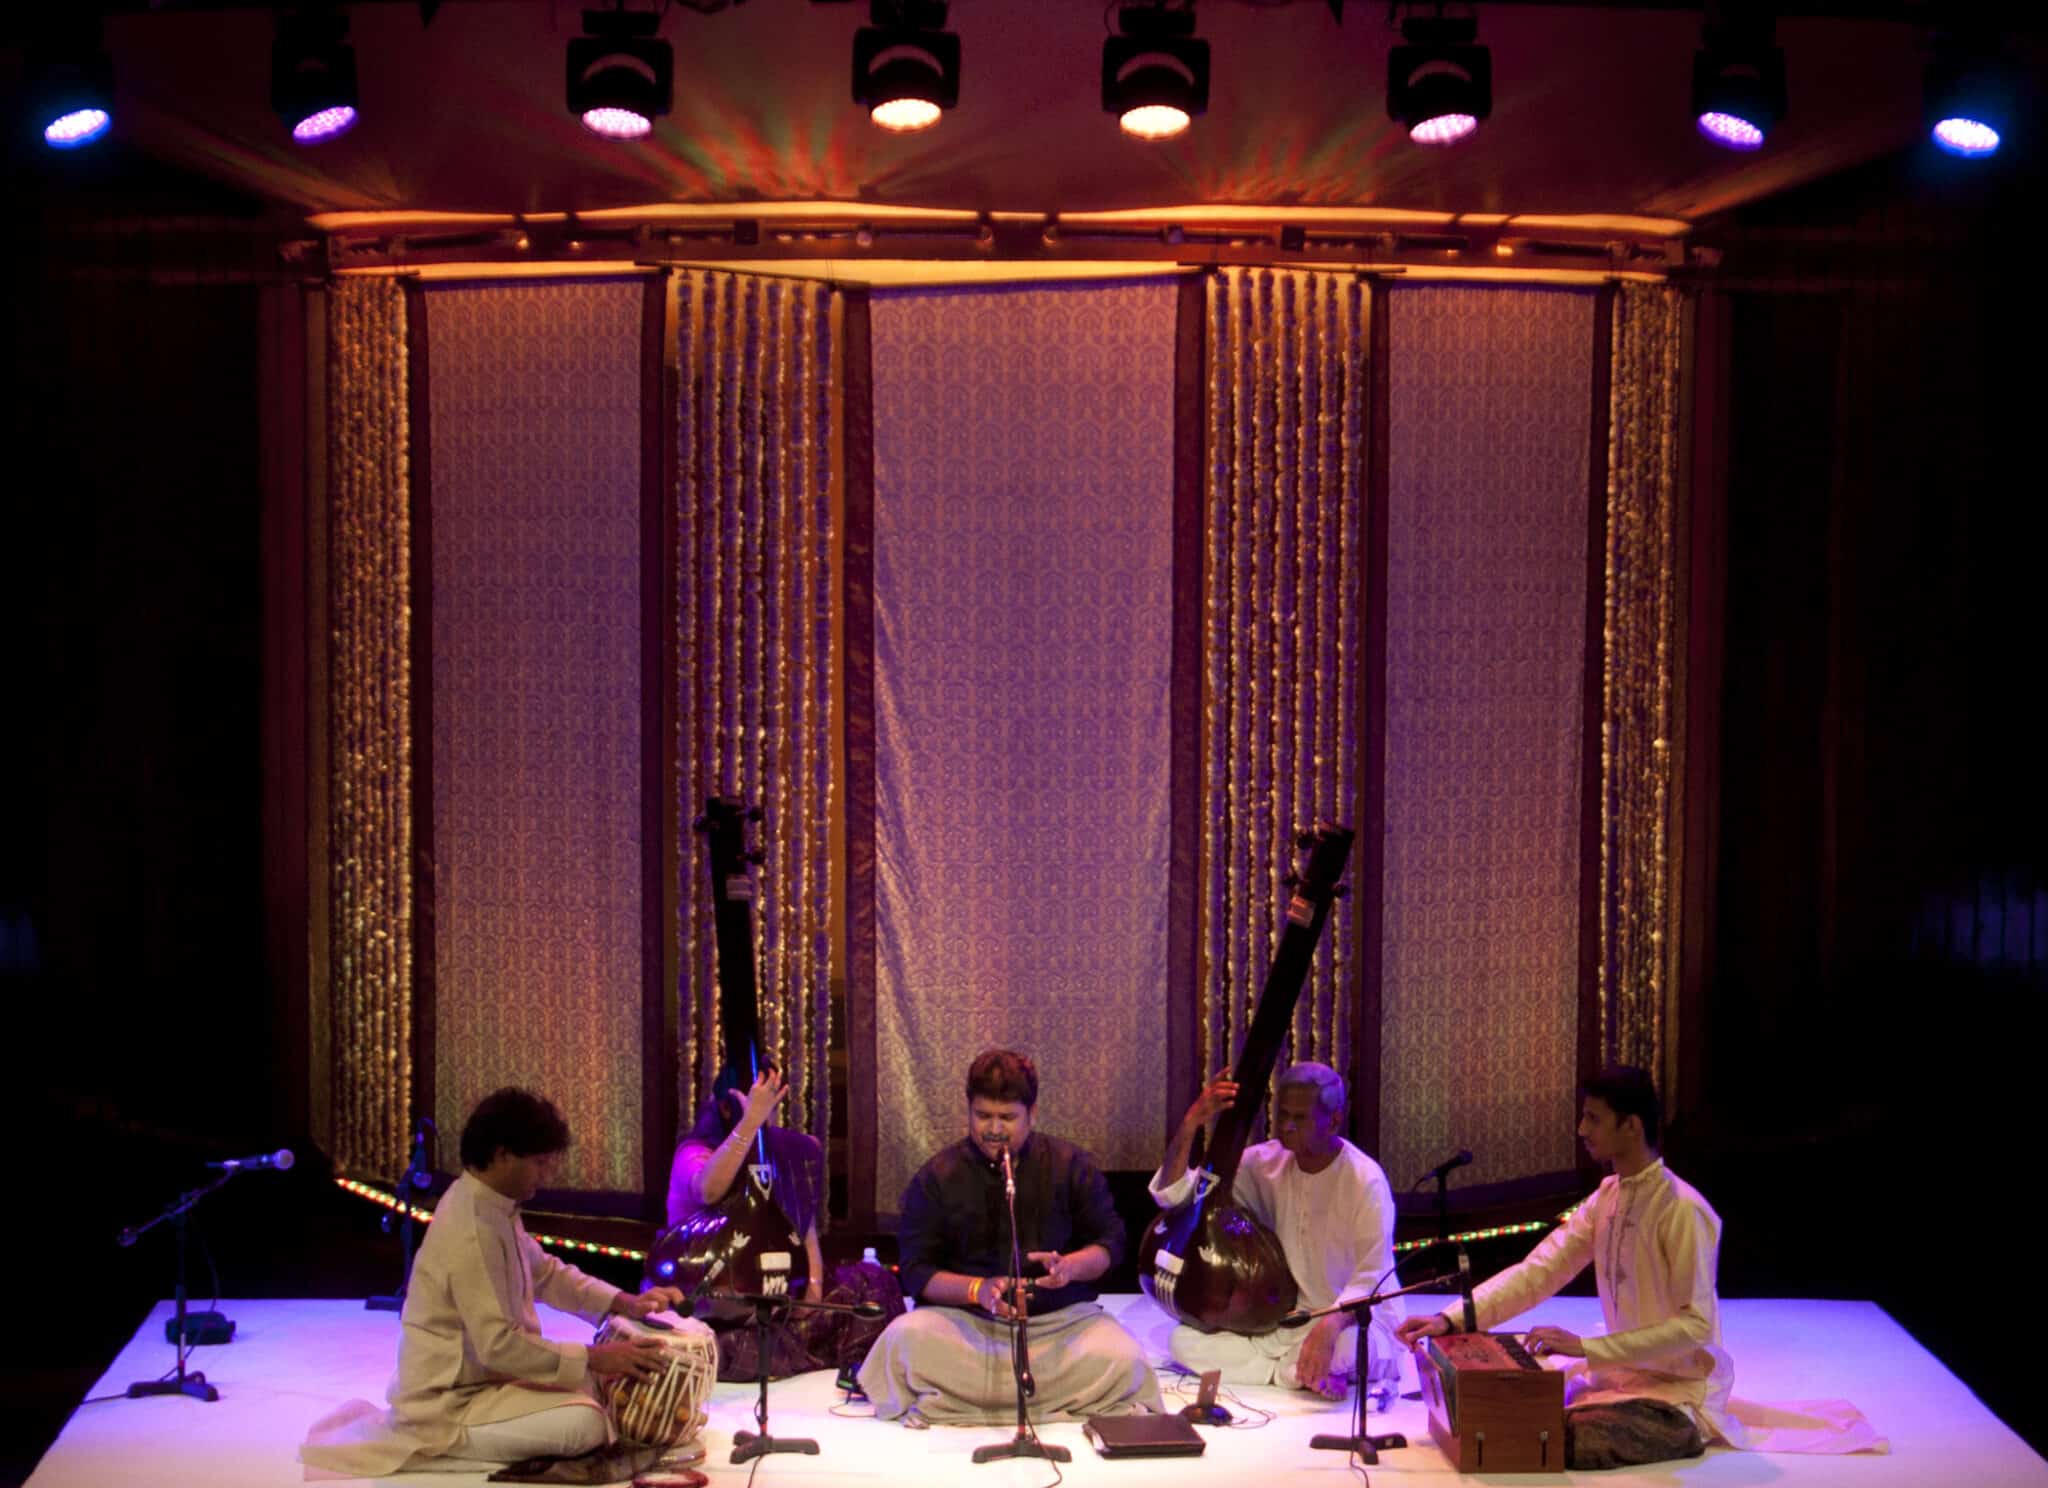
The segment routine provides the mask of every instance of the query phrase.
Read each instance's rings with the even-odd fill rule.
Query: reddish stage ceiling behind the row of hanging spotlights
[[[121,6],[131,10],[129,6]],[[840,201],[1010,213],[1370,207],[1698,221],[1894,151],[1919,131],[1921,29],[1786,18],[1792,108],[1737,156],[1688,117],[1698,8],[1479,6],[1495,108],[1477,139],[1411,145],[1386,119],[1384,4],[1202,0],[1212,104],[1180,141],[1100,111],[1100,0],[956,0],[961,106],[887,135],[850,100],[866,4],[666,12],[676,106],[651,141],[563,108],[567,0],[350,4],[362,123],[295,147],[268,106],[272,14],[158,0],[117,14],[119,125],[147,156],[293,213],[588,213]],[[18,57],[16,57],[18,61]]]

